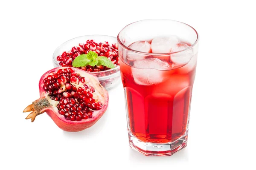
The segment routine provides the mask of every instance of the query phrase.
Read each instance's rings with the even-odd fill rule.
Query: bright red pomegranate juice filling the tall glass
[[[184,44],[190,46],[177,46]],[[142,142],[174,142],[186,135],[197,56],[185,64],[176,64],[172,60],[175,55],[127,56],[119,60],[128,128]]]

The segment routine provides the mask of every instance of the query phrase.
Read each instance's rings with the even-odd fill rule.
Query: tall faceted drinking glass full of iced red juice
[[[142,20],[118,37],[129,144],[146,156],[187,145],[198,33],[173,20]]]

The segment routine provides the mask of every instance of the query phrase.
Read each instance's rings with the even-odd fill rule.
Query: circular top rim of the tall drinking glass
[[[189,25],[186,24],[186,23],[183,23],[183,22],[180,22],[180,21],[176,21],[176,20],[168,20],[168,19],[147,19],[147,20],[166,20],[166,21],[174,21],[174,22],[182,23],[182,24],[185,24],[186,26],[189,26]],[[120,35],[120,33],[121,33],[125,28],[127,28],[127,27],[130,26],[131,24],[138,23],[138,22],[141,22],[141,21],[146,21],[146,20],[139,20],[139,21],[130,23],[130,24],[128,24],[127,26],[125,26],[124,28],[122,28],[122,30],[119,32],[119,34],[117,35],[117,42],[119,42],[119,44],[120,44],[123,48],[125,48],[125,49],[127,49],[127,50],[129,50],[129,51],[133,51],[133,52],[135,52],[135,53],[144,54],[144,55],[150,55],[150,56],[164,56],[164,55],[170,55],[170,54],[180,53],[180,52],[183,52],[183,51],[188,51],[188,50],[190,50],[191,48],[193,48],[195,45],[198,44],[198,41],[199,41],[199,34],[198,34],[198,32],[195,30],[195,28],[193,28],[192,26],[189,26],[190,28],[192,28],[192,29],[195,31],[195,34],[196,34],[197,38],[196,38],[195,42],[194,42],[192,45],[190,45],[190,46],[187,47],[187,48],[184,48],[183,50],[175,51],[175,52],[169,52],[169,53],[147,53],[147,52],[143,52],[143,51],[133,50],[133,49],[129,48],[128,46],[124,45],[124,44],[121,42],[121,40],[119,39],[119,35]]]

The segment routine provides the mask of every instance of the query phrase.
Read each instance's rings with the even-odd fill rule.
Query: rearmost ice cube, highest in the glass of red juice
[[[169,53],[179,43],[179,39],[175,35],[157,37],[151,42],[152,53]]]

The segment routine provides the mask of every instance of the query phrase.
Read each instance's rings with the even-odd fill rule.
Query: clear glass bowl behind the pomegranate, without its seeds
[[[70,51],[74,46],[78,46],[79,43],[86,43],[87,40],[95,40],[95,42],[105,42],[108,41],[109,44],[117,43],[116,37],[111,37],[107,35],[85,35],[81,37],[76,37],[71,40],[68,40],[58,46],[53,53],[52,62],[54,67],[61,67],[57,61],[57,56],[61,55],[63,51]],[[116,85],[121,83],[120,77],[120,67],[119,65],[116,68],[110,70],[92,72],[96,77],[98,77],[100,84],[105,87],[107,90],[114,88]]]

